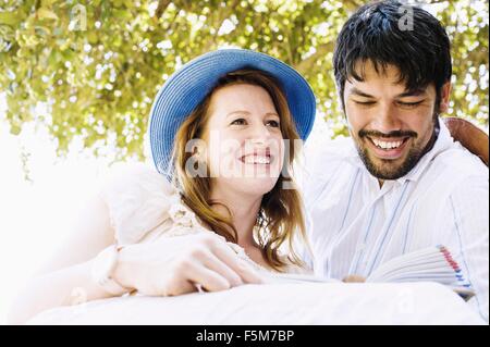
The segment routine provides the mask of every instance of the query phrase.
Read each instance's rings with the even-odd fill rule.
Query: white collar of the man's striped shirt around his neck
[[[430,164],[430,162],[441,152],[446,150],[451,147],[453,144],[453,138],[451,137],[451,133],[445,126],[444,122],[439,119],[439,135],[436,139],[436,142],[427,153],[420,158],[418,163],[415,165],[414,169],[412,169],[405,176],[400,177],[397,179],[393,179],[393,182],[403,184],[405,181],[418,181],[420,175],[424,173],[426,168]],[[357,152],[357,149],[354,145],[354,140],[351,139],[350,148],[346,152],[345,160],[350,163],[354,164],[357,168],[362,168],[364,172],[370,175],[370,173],[367,171],[366,166],[364,165],[364,162],[360,160],[359,154]],[[375,178],[375,177],[373,177]]]

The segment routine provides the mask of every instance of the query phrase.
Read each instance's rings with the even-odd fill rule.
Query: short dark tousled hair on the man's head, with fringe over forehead
[[[343,109],[345,82],[351,77],[364,80],[363,66],[367,61],[373,63],[377,72],[389,64],[396,66],[407,90],[433,83],[438,108],[441,87],[451,79],[450,40],[442,25],[427,11],[397,1],[366,4],[342,27],[333,66]],[[356,71],[359,62],[360,71]]]

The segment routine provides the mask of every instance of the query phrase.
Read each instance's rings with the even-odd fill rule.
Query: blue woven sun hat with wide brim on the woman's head
[[[179,127],[220,77],[242,69],[264,71],[281,84],[299,137],[303,140],[308,137],[315,121],[316,102],[306,79],[270,55],[245,49],[220,49],[183,65],[157,94],[150,111],[148,135],[158,172],[171,177],[170,161]]]

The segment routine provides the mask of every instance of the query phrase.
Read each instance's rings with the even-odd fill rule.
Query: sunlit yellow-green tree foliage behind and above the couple
[[[335,134],[345,133],[331,59],[336,34],[360,4],[5,0],[0,4],[0,91],[7,95],[7,121],[13,134],[26,122],[45,124],[60,153],[75,137],[97,152],[112,136],[121,158],[142,157],[151,102],[166,78],[206,51],[234,46],[295,66],[311,84],[319,113],[334,124]],[[439,5],[453,41],[451,113],[488,125],[488,4]],[[41,116],[35,112],[39,102],[46,107]]]

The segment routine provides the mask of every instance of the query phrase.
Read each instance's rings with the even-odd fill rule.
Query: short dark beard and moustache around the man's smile
[[[418,145],[416,142],[418,138],[417,133],[401,132],[401,131],[391,132],[389,134],[382,134],[376,131],[362,129],[357,134],[358,140],[355,141],[355,144],[360,160],[363,160],[364,165],[372,176],[383,181],[397,179],[400,177],[405,176],[408,172],[411,172],[411,170],[414,169],[415,165],[417,165],[417,163],[424,157],[424,154],[427,153],[433,147],[433,144],[436,142],[437,139],[438,131],[439,131],[438,115],[434,114],[432,135],[427,145],[425,146]],[[414,139],[414,141],[412,144],[412,147],[408,149],[406,158],[403,160],[401,164],[394,163],[393,160],[379,158],[377,159],[378,163],[376,163],[370,158],[368,149],[363,145],[363,140],[369,141],[369,139],[367,139],[367,136],[381,137],[385,139],[390,139],[391,137],[395,138],[411,137]]]

